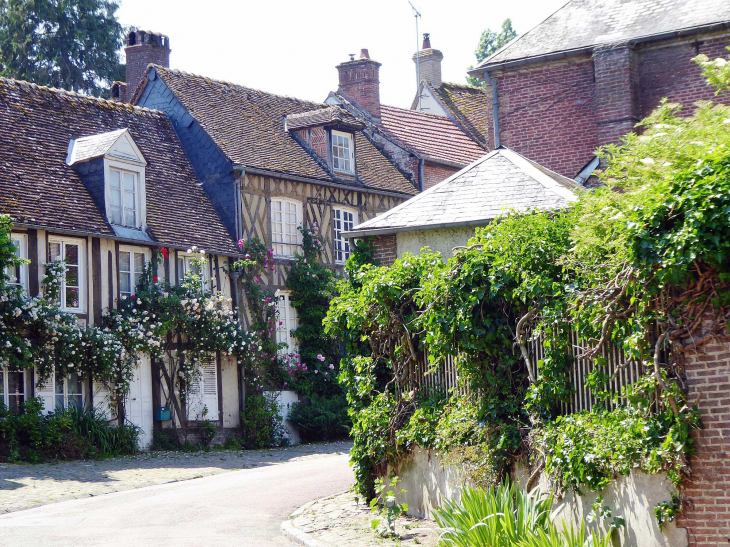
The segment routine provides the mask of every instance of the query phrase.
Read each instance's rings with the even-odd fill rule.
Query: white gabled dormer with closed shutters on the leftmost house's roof
[[[128,129],[72,140],[66,163],[79,173],[117,236],[152,241],[147,229],[147,160]]]

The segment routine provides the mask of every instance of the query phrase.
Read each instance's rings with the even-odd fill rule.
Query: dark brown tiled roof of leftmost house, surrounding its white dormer
[[[66,155],[72,139],[128,129],[148,162],[155,241],[236,253],[162,112],[0,78],[0,128],[0,213],[17,224],[114,237]]]

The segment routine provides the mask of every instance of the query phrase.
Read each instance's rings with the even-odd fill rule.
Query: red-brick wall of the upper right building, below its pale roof
[[[502,144],[572,178],[599,145],[631,130],[663,97],[687,114],[698,100],[730,104],[730,94],[715,96],[692,62],[699,53],[727,57],[728,45],[726,30],[496,70]]]

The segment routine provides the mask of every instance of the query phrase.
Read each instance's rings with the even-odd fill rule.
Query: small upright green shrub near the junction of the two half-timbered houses
[[[241,413],[243,443],[247,449],[285,446],[287,438],[274,393],[252,394],[246,397]]]

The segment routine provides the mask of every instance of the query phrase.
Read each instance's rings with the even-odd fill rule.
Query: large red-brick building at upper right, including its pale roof
[[[596,148],[662,98],[728,102],[691,60],[727,55],[728,45],[727,0],[572,0],[470,71],[494,100],[489,147],[584,181],[598,165]]]

